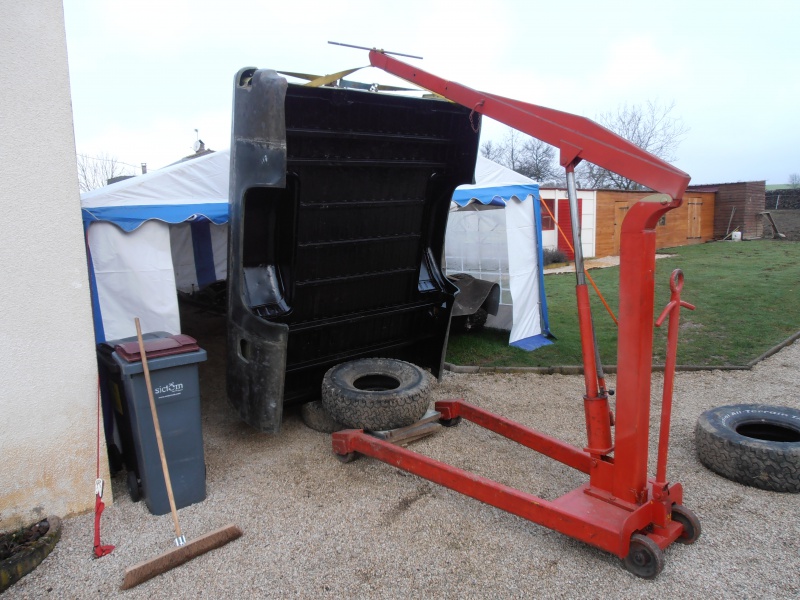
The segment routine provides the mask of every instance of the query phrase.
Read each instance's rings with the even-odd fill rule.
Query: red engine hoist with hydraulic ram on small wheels
[[[586,448],[576,448],[463,400],[436,403],[442,424],[455,425],[462,418],[472,421],[586,473],[589,476],[587,483],[548,501],[433,460],[361,430],[334,433],[333,451],[343,460],[348,460],[356,453],[377,458],[607,550],[623,559],[632,573],[644,578],[655,577],[664,566],[664,548],[676,541],[691,544],[700,535],[697,517],[682,506],[681,484],[666,479],[679,312],[682,306],[694,308],[680,299],[683,274],[679,270],[672,275],[671,301],[657,322],[660,326],[667,316],[670,318],[656,476],[648,477],[647,474],[655,227],[665,213],[681,205],[689,176],[589,119],[448,82],[382,51],[370,51],[370,63],[558,147],[560,162],[567,174],[572,223],[579,222],[574,169],[581,160],[588,160],[660,193],[637,202],[628,211],[622,224],[616,419],[609,409],[609,391],[606,389],[594,335],[580,228],[573,228],[576,294],[586,386]]]

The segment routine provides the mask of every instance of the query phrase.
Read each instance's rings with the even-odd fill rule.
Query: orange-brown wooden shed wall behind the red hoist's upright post
[[[619,235],[627,209],[652,192],[597,190],[597,256],[619,254]],[[656,248],[700,244],[714,239],[713,192],[687,192],[680,207],[656,226]]]

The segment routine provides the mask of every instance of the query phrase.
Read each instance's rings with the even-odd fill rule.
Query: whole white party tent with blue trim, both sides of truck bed
[[[82,194],[98,342],[135,335],[134,317],[180,333],[176,290],[226,278],[229,170],[223,150]],[[447,270],[501,284],[512,344],[548,343],[538,186],[482,157],[475,179],[453,196]]]

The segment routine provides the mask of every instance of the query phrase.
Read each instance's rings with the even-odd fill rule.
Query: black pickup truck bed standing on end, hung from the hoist
[[[442,369],[456,288],[440,265],[450,199],[472,182],[478,115],[438,99],[234,85],[230,402],[262,431],[361,357]]]

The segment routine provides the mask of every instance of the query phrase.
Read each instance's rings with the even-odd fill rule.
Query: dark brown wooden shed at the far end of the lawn
[[[721,240],[737,227],[744,239],[764,235],[763,212],[766,181],[716,184],[717,210],[714,214],[714,238]]]

